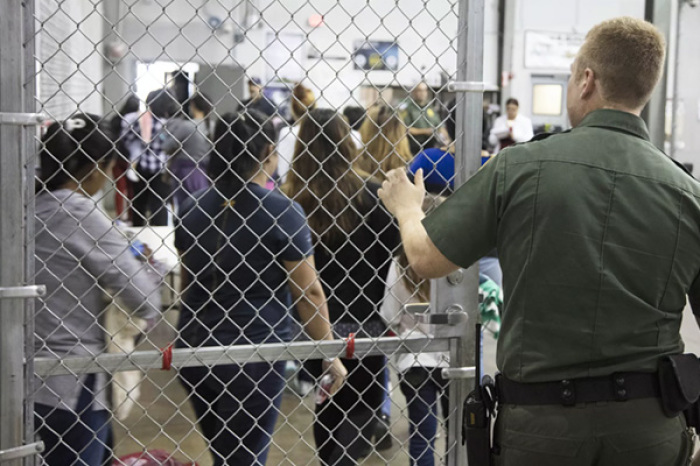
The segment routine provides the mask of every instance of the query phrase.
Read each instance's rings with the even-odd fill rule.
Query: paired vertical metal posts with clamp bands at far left
[[[43,450],[34,442],[34,299],[43,287],[34,275],[34,2],[3,0],[0,15],[0,462],[34,464]],[[24,458],[24,460],[23,460]]]

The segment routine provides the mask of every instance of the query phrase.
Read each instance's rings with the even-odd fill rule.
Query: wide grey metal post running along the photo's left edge
[[[22,113],[24,5],[16,0],[0,5],[0,112]],[[0,287],[25,282],[24,131],[0,125]],[[0,299],[0,450],[24,443],[24,306],[24,298]],[[5,464],[19,466],[22,460]]]

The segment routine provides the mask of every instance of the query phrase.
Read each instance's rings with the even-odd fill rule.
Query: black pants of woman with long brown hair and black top
[[[367,451],[384,402],[384,357],[343,359],[348,377],[343,387],[316,406],[314,440],[322,465],[355,465]]]

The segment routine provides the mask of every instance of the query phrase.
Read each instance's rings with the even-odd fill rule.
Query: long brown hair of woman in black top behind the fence
[[[356,155],[350,127],[338,113],[321,108],[302,118],[283,189],[326,244],[344,240],[362,222],[364,180],[352,170]]]

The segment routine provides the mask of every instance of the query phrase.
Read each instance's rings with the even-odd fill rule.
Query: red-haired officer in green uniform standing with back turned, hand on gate
[[[656,372],[683,352],[686,296],[700,314],[700,184],[639,117],[664,51],[654,26],[605,21],[571,67],[572,130],[505,149],[429,217],[422,173],[379,191],[423,277],[498,247],[496,466],[688,464]]]

